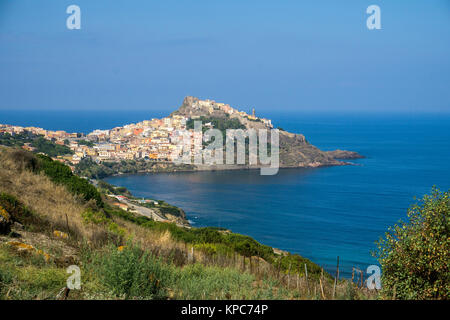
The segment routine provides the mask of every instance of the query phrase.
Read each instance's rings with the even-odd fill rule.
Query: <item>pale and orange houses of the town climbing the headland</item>
[[[248,115],[243,111],[233,109],[228,104],[212,100],[198,100],[192,107],[207,110],[210,114],[216,110],[221,110],[229,115],[238,114],[248,119],[258,119],[270,127],[272,126],[270,120],[256,118],[254,110],[252,115]],[[85,157],[90,157],[97,162],[133,159],[171,161],[171,155],[180,149],[180,138],[185,137],[188,132],[193,139],[193,130],[186,130],[188,120],[189,118],[182,115],[172,115],[163,119],[128,124],[111,130],[95,130],[87,135],[0,124],[0,133],[7,132],[14,135],[29,131],[36,135],[42,135],[57,144],[67,145],[73,151],[73,155],[60,157],[60,160],[72,164],[79,163]],[[32,150],[30,145],[24,145],[24,148]]]

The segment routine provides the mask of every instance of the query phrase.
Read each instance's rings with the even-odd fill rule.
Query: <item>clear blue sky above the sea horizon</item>
[[[450,113],[450,0],[0,0],[0,109],[170,111],[187,95]]]

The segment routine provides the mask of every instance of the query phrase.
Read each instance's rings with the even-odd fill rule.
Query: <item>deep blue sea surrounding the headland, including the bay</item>
[[[0,123],[89,132],[161,117],[145,111],[0,111]],[[357,151],[354,166],[110,177],[139,197],[183,208],[193,226],[219,226],[351,274],[377,264],[375,241],[436,185],[450,187],[450,115],[264,114],[323,150]]]

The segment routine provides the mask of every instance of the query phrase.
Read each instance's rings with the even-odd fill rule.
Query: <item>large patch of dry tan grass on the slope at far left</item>
[[[54,183],[43,172],[34,173],[31,160],[35,158],[17,159],[15,152],[14,149],[0,147],[0,193],[7,195],[0,200],[3,199],[1,205],[4,208],[8,208],[6,201],[20,209],[16,214],[19,222],[24,217],[21,212],[29,214],[32,211],[33,221],[22,221],[31,231],[52,233],[57,229],[71,234],[71,239],[86,239],[93,243],[107,237],[104,228],[86,224],[83,219],[82,213],[88,207],[96,207],[95,203],[86,203],[82,197],[74,195],[64,185]]]

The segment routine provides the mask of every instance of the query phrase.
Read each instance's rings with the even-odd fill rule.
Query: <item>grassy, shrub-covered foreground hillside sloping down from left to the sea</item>
[[[112,196],[124,195],[132,198],[44,155],[1,147],[0,298],[367,298],[347,280],[333,289],[313,262],[248,236],[116,207]],[[79,290],[66,288],[73,265]]]

